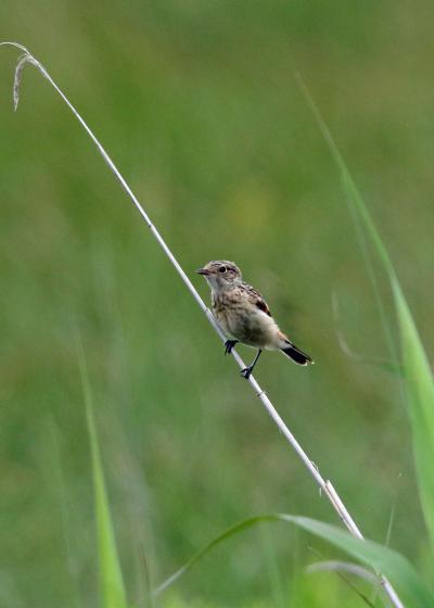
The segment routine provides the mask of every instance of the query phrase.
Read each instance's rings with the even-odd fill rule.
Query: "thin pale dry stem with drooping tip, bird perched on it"
[[[138,199],[136,198],[135,193],[132,192],[132,190],[130,189],[130,187],[128,186],[128,183],[126,182],[124,177],[122,176],[118,168],[116,167],[116,165],[114,164],[112,159],[108,156],[107,152],[104,150],[104,148],[102,147],[100,141],[93,135],[92,130],[87,125],[85,119],[77,112],[75,106],[69,102],[69,100],[66,98],[66,96],[63,93],[63,91],[54,83],[54,80],[51,78],[50,74],[47,72],[47,69],[43,67],[43,65],[34,55],[31,55],[25,47],[16,43],[16,42],[0,42],[0,46],[2,46],[2,45],[12,46],[12,47],[14,47],[16,49],[20,49],[21,51],[24,52],[24,55],[20,59],[17,68],[15,71],[15,84],[14,84],[14,104],[15,104],[15,107],[16,107],[17,102],[18,102],[18,85],[20,85],[21,72],[22,72],[22,69],[23,69],[23,67],[25,66],[26,63],[30,63],[30,64],[35,65],[41,72],[41,74],[47,78],[47,80],[50,83],[50,85],[61,96],[63,101],[66,103],[66,105],[73,112],[74,116],[77,118],[77,121],[84,127],[84,129],[87,131],[90,139],[93,141],[93,143],[98,148],[100,154],[102,155],[102,157],[104,159],[104,161],[108,165],[110,169],[114,174],[115,178],[119,181],[122,188],[125,190],[125,192],[131,199],[132,203],[135,204],[135,206],[139,211],[142,218],[144,219],[148,228],[151,230],[152,235],[157,240],[159,246],[163,249],[164,253],[167,255],[167,257],[169,258],[169,261],[174,265],[175,269],[177,270],[177,273],[181,277],[186,287],[188,288],[188,290],[190,291],[190,293],[192,294],[194,300],[197,302],[199,306],[202,308],[202,312],[206,315],[208,321],[214,327],[214,329],[216,330],[216,332],[218,333],[220,339],[222,341],[226,341],[226,337],[225,337],[224,332],[221,331],[220,327],[218,326],[217,321],[215,320],[212,312],[206,306],[206,304],[204,303],[204,301],[202,300],[202,297],[200,296],[200,294],[195,290],[193,283],[190,281],[189,277],[186,275],[186,273],[183,271],[183,269],[179,265],[177,258],[171,253],[170,249],[166,244],[162,235],[158,232],[158,230],[152,224],[150,217],[148,216],[148,214],[143,210],[142,205],[139,203]],[[234,351],[234,350],[232,351],[232,356],[233,356],[233,358],[235,359],[235,362],[238,363],[238,365],[240,366],[241,369],[244,369],[246,367],[243,359],[240,357],[240,355],[237,353],[237,351]],[[295,439],[295,436],[292,434],[290,429],[283,422],[282,418],[279,416],[279,414],[278,414],[277,409],[275,408],[275,406],[272,405],[271,401],[268,398],[267,394],[263,391],[263,389],[259,387],[259,384],[257,383],[257,381],[255,380],[255,378],[253,376],[251,376],[248,378],[248,382],[251,383],[251,387],[255,391],[256,396],[259,397],[264,407],[267,409],[269,416],[271,417],[273,422],[279,428],[280,432],[283,434],[283,436],[286,439],[286,441],[291,444],[291,446],[296,452],[296,454],[298,455],[298,457],[301,458],[301,460],[303,461],[305,467],[308,469],[308,471],[310,472],[310,474],[312,476],[312,478],[315,479],[315,481],[317,482],[317,484],[319,485],[321,491],[329,498],[329,501],[332,504],[334,510],[337,512],[339,517],[341,518],[343,523],[346,525],[348,531],[354,536],[356,536],[357,539],[362,540],[363,536],[362,536],[360,530],[358,529],[354,519],[349,515],[349,512],[346,509],[344,503],[342,502],[342,499],[337,495],[337,492],[334,490],[331,481],[329,481],[329,480],[326,481],[322,478],[322,476],[319,472],[318,467],[307,456],[306,452],[303,449],[303,447],[301,446],[298,441]],[[404,605],[401,604],[400,599],[396,595],[396,593],[395,593],[394,588],[392,587],[391,583],[384,577],[381,577],[381,575],[380,575],[380,582],[383,585],[384,591],[387,594],[388,598],[391,599],[392,605],[395,606],[396,608],[404,608]]]

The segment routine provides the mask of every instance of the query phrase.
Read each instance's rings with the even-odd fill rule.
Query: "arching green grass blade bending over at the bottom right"
[[[252,517],[232,525],[208,543],[203,549],[193,555],[179,570],[166,579],[166,581],[164,581],[155,590],[154,594],[158,595],[168,588],[183,574],[191,570],[191,568],[212,549],[214,549],[214,547],[227,541],[231,536],[239,534],[253,525],[276,521],[284,521],[293,523],[298,528],[303,528],[311,534],[315,534],[316,536],[319,536],[332,545],[343,549],[362,563],[380,571],[391,581],[399,598],[408,608],[431,608],[434,606],[434,596],[421,581],[411,563],[400,554],[390,549],[388,547],[373,543],[372,541],[360,541],[355,539],[345,530],[323,523],[322,521],[317,521],[306,517],[294,517],[285,514],[268,514]]]

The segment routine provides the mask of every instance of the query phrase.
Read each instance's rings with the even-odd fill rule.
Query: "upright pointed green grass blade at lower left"
[[[108,498],[105,490],[104,472],[93,419],[92,396],[82,353],[80,353],[80,371],[92,457],[101,596],[103,597],[104,608],[127,608],[124,580],[116,549]]]

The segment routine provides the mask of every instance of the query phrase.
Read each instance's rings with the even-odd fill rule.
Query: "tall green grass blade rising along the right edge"
[[[403,369],[412,428],[419,494],[431,546],[434,550],[434,379],[430,363],[397,279],[392,259],[373,224],[368,207],[306,86],[301,79],[298,81],[302,92],[337,165],[348,202],[358,214],[368,236],[373,242],[392,286],[399,326]]]

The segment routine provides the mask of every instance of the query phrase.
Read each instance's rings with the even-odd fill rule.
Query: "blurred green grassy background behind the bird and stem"
[[[47,66],[201,294],[234,259],[317,362],[256,377],[363,533],[423,566],[399,376],[339,176],[294,80],[323,113],[434,357],[432,2],[2,0],[0,38]],[[240,519],[336,523],[84,131],[0,52],[0,605],[95,606],[82,341],[131,603]],[[381,284],[386,301],[386,283]],[[339,319],[332,299],[339,302]],[[392,305],[386,307],[394,328]],[[341,331],[360,358],[341,349]],[[246,359],[253,351],[240,349]],[[329,546],[282,524],[221,545],[158,606],[361,606]]]

